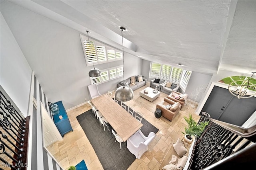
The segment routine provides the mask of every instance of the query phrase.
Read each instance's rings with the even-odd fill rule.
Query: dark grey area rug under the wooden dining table
[[[84,130],[104,170],[127,170],[136,159],[134,154],[127,149],[127,143],[122,142],[122,149],[120,149],[120,143],[115,142],[114,135],[111,135],[110,131],[107,129],[104,131],[103,125],[100,126],[99,119],[94,117],[92,109],[78,115],[76,119]],[[151,131],[157,133],[159,130],[144,118],[142,124],[141,131],[145,136],[148,136]]]

